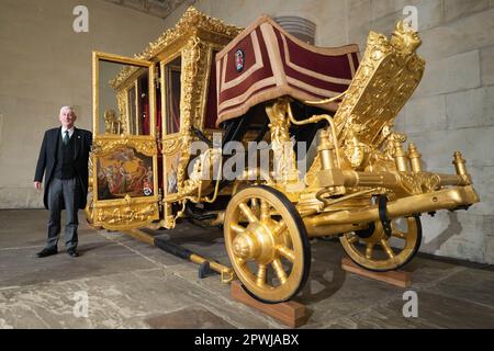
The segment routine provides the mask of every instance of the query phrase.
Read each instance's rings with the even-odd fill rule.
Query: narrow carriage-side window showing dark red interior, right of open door
[[[181,57],[165,65],[165,93],[166,93],[166,133],[180,132],[180,73]]]

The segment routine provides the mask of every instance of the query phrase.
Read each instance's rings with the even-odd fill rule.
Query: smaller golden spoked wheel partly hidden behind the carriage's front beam
[[[420,247],[420,218],[393,219],[391,229],[388,238],[381,223],[377,222],[369,230],[347,233],[339,240],[357,264],[378,272],[396,270],[405,265]]]

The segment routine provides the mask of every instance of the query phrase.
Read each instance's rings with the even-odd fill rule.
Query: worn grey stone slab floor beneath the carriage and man
[[[217,275],[121,233],[79,229],[81,256],[37,259],[46,212],[0,211],[0,328],[284,328],[234,302]],[[80,214],[81,223],[83,215]],[[220,230],[182,225],[175,244],[227,264]],[[494,328],[494,270],[418,256],[407,267],[418,317],[403,316],[403,288],[347,273],[339,244],[312,241],[310,281],[296,301],[302,328]],[[88,296],[88,317],[77,312]],[[76,314],[75,314],[76,310]]]

